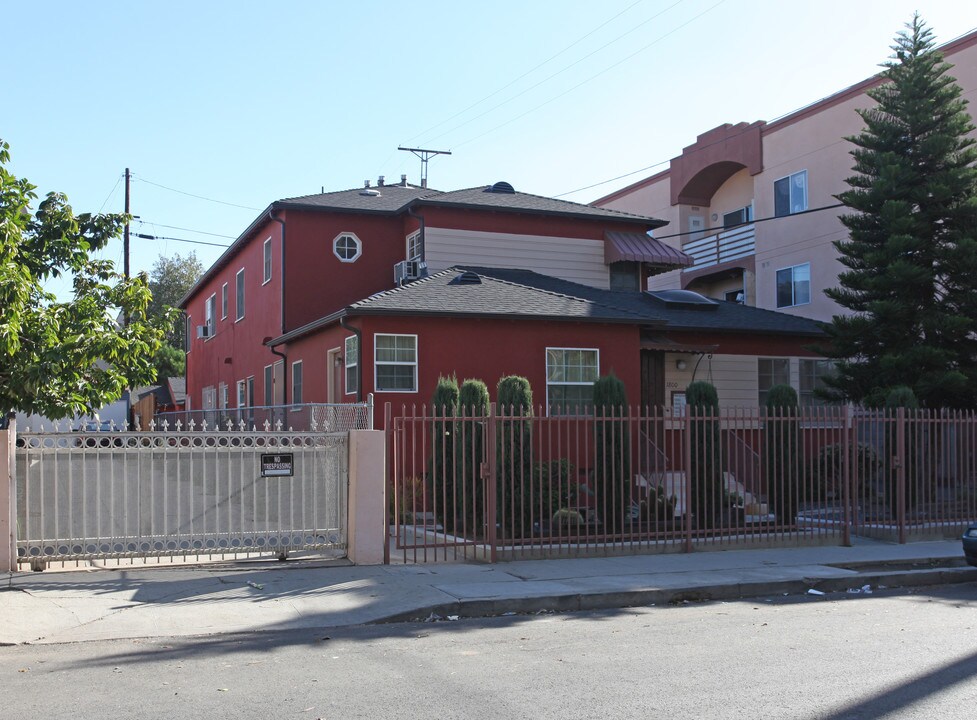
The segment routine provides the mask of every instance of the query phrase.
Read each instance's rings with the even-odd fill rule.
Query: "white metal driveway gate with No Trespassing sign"
[[[19,433],[19,562],[343,549],[347,438]]]

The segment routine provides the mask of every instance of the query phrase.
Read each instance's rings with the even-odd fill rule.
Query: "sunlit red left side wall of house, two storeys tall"
[[[281,235],[278,223],[266,223],[254,239],[245,245],[228,264],[194,295],[187,305],[190,316],[190,352],[187,353],[187,397],[191,408],[201,408],[202,390],[229,386],[230,405],[237,405],[235,383],[249,375],[255,378],[255,403],[264,398],[265,365],[279,358],[263,346],[265,337],[281,334]],[[271,281],[262,282],[264,272],[263,245],[271,238]],[[244,318],[235,320],[237,312],[235,277],[244,268]],[[221,286],[227,283],[227,317],[221,319]],[[204,324],[204,304],[216,294],[214,337],[198,339],[196,327]],[[220,398],[218,397],[218,403]]]

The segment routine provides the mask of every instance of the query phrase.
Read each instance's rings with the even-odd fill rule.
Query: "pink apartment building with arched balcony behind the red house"
[[[973,102],[977,32],[939,50]],[[668,169],[593,204],[668,220],[657,237],[693,262],[651,278],[651,290],[689,289],[828,321],[844,312],[824,290],[843,269],[833,242],[847,236],[835,198],[852,174],[853,146],[845,138],[861,131],[856,110],[874,104],[865,91],[881,82],[869,78],[772,122],[709,130]],[[763,357],[757,365],[761,378],[798,389],[830,371],[827,363],[784,357]]]

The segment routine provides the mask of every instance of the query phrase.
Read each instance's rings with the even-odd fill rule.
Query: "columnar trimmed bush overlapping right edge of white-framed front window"
[[[631,438],[627,391],[614,373],[594,382],[594,492],[612,530],[624,527],[631,505]]]

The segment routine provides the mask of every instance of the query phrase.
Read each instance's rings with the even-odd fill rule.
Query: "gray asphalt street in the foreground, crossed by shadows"
[[[975,590],[3,647],[3,717],[969,720]]]

